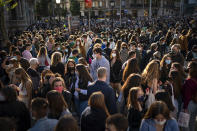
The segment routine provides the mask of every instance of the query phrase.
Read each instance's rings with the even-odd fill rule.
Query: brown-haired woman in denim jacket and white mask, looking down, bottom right
[[[179,131],[179,127],[177,121],[170,116],[167,105],[156,101],[146,112],[140,131]]]

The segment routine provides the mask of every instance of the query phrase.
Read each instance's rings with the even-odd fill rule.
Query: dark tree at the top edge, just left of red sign
[[[73,16],[80,15],[80,3],[77,0],[70,0],[70,11]]]

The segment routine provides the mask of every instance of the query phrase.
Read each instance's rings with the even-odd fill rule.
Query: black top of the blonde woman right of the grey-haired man
[[[64,77],[65,67],[63,63],[59,62],[56,66],[51,65],[50,70],[54,74],[59,73],[62,77]]]

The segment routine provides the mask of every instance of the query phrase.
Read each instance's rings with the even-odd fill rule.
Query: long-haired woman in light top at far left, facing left
[[[19,100],[23,101],[29,108],[32,99],[32,81],[30,76],[23,68],[17,68],[15,70],[16,78],[20,81],[19,87],[14,86],[19,91]]]

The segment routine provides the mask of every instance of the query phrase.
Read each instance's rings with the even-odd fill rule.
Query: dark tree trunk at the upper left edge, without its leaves
[[[2,44],[0,47],[5,47],[7,42],[9,41],[8,33],[5,27],[5,15],[4,15],[4,7],[0,7],[0,31],[2,33]]]

